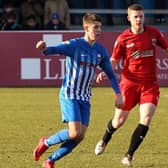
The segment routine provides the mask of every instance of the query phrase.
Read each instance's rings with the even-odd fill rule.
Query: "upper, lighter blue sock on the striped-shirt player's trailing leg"
[[[52,146],[52,145],[59,144],[61,142],[67,141],[69,139],[70,138],[69,138],[68,129],[63,129],[63,130],[57,132],[55,135],[50,136],[46,140],[46,144],[48,146]]]

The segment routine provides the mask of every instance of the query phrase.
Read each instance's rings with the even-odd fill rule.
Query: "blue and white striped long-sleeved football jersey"
[[[90,45],[83,37],[47,47],[45,55],[66,56],[66,74],[61,96],[69,99],[89,101],[96,67],[99,65],[110,79],[116,93],[120,93],[106,49],[99,43]]]

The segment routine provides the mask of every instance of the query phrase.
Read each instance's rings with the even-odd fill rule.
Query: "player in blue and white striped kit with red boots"
[[[56,134],[41,138],[33,152],[36,161],[52,145],[61,144],[47,160],[43,168],[54,168],[54,163],[70,153],[83,139],[89,125],[90,97],[96,67],[99,65],[107,74],[116,93],[115,105],[123,104],[120,88],[109,61],[106,49],[97,43],[101,34],[101,18],[94,13],[83,17],[84,37],[70,39],[57,46],[47,47],[44,41],[36,45],[44,55],[66,56],[66,75],[60,90],[62,121],[68,128]]]

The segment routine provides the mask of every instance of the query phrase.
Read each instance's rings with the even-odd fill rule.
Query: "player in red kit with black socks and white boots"
[[[131,28],[119,35],[111,57],[113,67],[123,60],[120,88],[124,106],[115,109],[113,119],[108,122],[102,139],[96,145],[95,154],[104,152],[112,134],[124,124],[130,110],[139,104],[140,120],[121,160],[123,165],[132,166],[133,155],[148,132],[159,99],[155,47],[160,46],[168,54],[168,42],[158,29],[144,25],[144,11],[140,4],[128,7],[128,21]],[[104,73],[100,73],[97,82],[104,77]]]

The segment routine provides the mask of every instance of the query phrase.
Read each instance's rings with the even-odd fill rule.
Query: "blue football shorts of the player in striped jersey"
[[[60,98],[62,122],[81,122],[88,126],[90,120],[90,103],[76,99]]]

